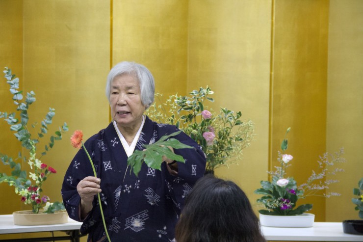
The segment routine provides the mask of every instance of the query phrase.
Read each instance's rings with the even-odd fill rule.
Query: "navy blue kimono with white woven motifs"
[[[142,144],[155,142],[177,130],[175,126],[157,124],[146,117],[135,150],[142,150]],[[205,155],[193,139],[183,132],[174,138],[194,147],[174,150],[185,160],[185,164],[178,162],[178,174],[175,176],[169,173],[165,162],[161,171],[143,163],[138,177],[130,174],[130,167],[126,172],[128,157],[112,122],[84,143],[97,177],[101,179],[102,207],[112,242],[170,242],[174,239],[174,228],[184,197],[204,175],[206,166]],[[80,221],[77,185],[87,176],[93,176],[93,171],[85,151],[81,149],[65,174],[61,191],[68,215],[77,221]],[[97,196],[80,232],[89,234],[89,242],[106,240]]]

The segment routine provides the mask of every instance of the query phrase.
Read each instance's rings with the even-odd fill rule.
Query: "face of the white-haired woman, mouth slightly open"
[[[111,117],[119,129],[138,129],[145,106],[141,102],[139,82],[133,75],[115,77],[110,89]]]

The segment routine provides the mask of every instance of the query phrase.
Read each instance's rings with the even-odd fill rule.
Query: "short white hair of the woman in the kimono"
[[[106,97],[108,102],[110,102],[110,89],[111,83],[115,77],[121,75],[135,75],[137,81],[139,81],[141,90],[141,102],[145,106],[150,106],[154,102],[155,94],[155,81],[151,72],[145,66],[129,61],[123,61],[116,64],[107,76],[106,82]]]

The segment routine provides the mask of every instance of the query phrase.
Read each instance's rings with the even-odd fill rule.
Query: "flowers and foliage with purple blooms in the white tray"
[[[286,135],[290,132],[290,128],[287,129],[285,138],[281,144],[282,152],[278,152],[278,161],[280,166],[275,166],[275,171],[268,172],[272,181],[261,181],[261,187],[255,190],[255,193],[263,195],[257,200],[266,209],[259,210],[263,215],[301,215],[312,208],[312,204],[303,204],[296,207],[298,199],[305,198],[307,196],[339,196],[339,193],[329,192],[327,194],[321,194],[321,190],[328,189],[330,184],[337,183],[337,180],[324,180],[327,174],[337,174],[343,171],[341,168],[335,168],[331,170],[332,166],[339,162],[345,162],[345,159],[341,157],[344,154],[343,149],[335,154],[325,153],[320,157],[319,172],[312,171],[311,176],[307,182],[297,186],[293,177],[286,177],[286,168],[290,166],[293,157],[284,152],[287,150]]]

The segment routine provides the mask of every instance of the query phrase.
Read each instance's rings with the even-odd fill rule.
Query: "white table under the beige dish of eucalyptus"
[[[68,218],[68,223],[63,224],[51,224],[51,225],[32,225],[22,226],[14,225],[13,215],[0,215],[0,242],[5,241],[22,241],[22,242],[34,242],[34,241],[61,241],[69,240],[72,242],[79,242],[79,229],[82,223],[77,222],[71,218]],[[69,236],[62,237],[48,237],[44,238],[31,238],[31,239],[14,239],[14,240],[1,240],[1,234],[17,234],[17,233],[33,233],[33,232],[49,232],[49,231],[63,231]]]

